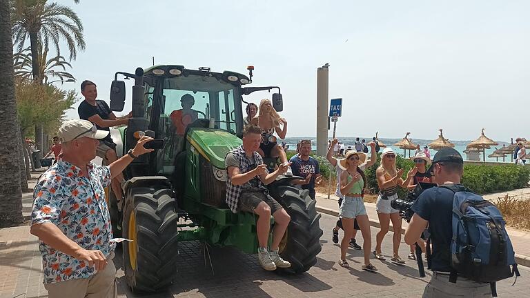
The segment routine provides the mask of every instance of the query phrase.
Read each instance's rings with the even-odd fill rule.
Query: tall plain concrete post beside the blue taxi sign
[[[317,155],[326,156],[328,151],[328,109],[329,109],[328,66],[317,70]]]

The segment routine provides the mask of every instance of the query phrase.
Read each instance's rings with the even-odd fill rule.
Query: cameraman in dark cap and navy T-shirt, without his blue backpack
[[[460,184],[464,172],[462,155],[453,148],[443,148],[436,153],[427,172],[436,177],[439,186]],[[491,297],[489,284],[478,283],[465,277],[458,277],[456,284],[449,283],[453,195],[454,192],[446,188],[429,188],[422,192],[411,208],[414,215],[406,228],[406,244],[415,244],[429,224],[433,245],[433,276],[425,287],[423,297]]]

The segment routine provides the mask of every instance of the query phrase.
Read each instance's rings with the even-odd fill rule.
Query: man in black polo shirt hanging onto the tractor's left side
[[[81,94],[85,97],[85,100],[77,108],[79,118],[94,123],[98,130],[110,131],[110,128],[113,126],[127,125],[130,117],[132,117],[132,113],[124,117],[116,117],[105,101],[97,100],[96,84],[92,81],[87,80],[81,83]],[[118,159],[115,148],[116,144],[110,138],[110,134],[108,134],[104,139],[99,140],[96,155],[104,159],[104,164],[108,165]],[[110,184],[112,192],[114,192],[118,200],[118,208],[120,210],[121,198],[123,197],[121,181],[123,180],[124,176],[120,173],[116,177],[113,177],[112,183]]]

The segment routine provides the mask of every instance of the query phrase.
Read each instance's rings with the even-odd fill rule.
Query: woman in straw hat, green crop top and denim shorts
[[[339,265],[346,268],[349,267],[346,261],[346,252],[353,237],[353,221],[357,219],[363,239],[364,265],[362,269],[375,271],[377,268],[370,263],[370,223],[362,201],[363,191],[366,188],[366,175],[364,175],[360,167],[364,166],[365,163],[366,153],[356,152],[355,150],[348,151],[344,159],[339,161],[339,167],[342,169],[340,174],[340,192],[344,195],[339,208],[339,217],[344,228],[344,238],[342,238],[340,243]]]

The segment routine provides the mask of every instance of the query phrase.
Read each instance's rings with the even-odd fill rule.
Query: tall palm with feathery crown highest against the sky
[[[77,57],[77,49],[84,50],[83,24],[77,14],[66,6],[46,3],[45,0],[12,0],[12,37],[18,52],[22,52],[27,39],[30,39],[32,72],[35,81],[42,81],[39,66],[39,48],[48,49],[53,43],[57,55],[61,54],[59,41],[66,41],[70,61]]]

